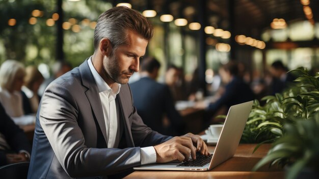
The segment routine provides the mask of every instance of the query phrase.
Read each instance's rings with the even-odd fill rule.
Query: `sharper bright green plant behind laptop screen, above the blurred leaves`
[[[264,106],[254,101],[242,143],[270,143],[283,135],[284,123],[308,119],[319,110],[318,75],[311,76],[301,67],[295,72],[298,78],[288,89],[275,96],[265,96]]]

